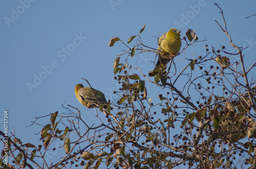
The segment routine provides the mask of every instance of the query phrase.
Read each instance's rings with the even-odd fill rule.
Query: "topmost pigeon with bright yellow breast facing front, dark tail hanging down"
[[[181,47],[180,35],[180,30],[173,28],[160,37],[157,50],[162,50],[162,52],[157,53],[158,61],[154,70],[159,68],[160,64],[163,64],[165,66],[171,58],[175,57],[175,55],[178,54]]]

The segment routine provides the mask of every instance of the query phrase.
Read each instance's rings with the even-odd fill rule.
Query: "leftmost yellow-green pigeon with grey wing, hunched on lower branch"
[[[84,88],[80,83],[75,86],[75,94],[77,100],[88,108],[99,107],[98,101],[99,104],[107,103],[105,95],[102,92],[96,89],[92,90],[89,87]]]

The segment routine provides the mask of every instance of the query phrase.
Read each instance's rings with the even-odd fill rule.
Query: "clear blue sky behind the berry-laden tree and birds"
[[[36,144],[39,135],[33,133],[38,133],[41,127],[26,126],[35,116],[67,112],[62,104],[79,108],[84,118],[94,121],[94,110],[76,99],[75,85],[87,86],[81,79],[86,78],[106,97],[116,98],[112,92],[119,86],[113,78],[113,62],[125,47],[120,42],[109,47],[109,41],[119,37],[126,42],[139,33],[144,23],[141,37],[150,47],[157,48],[155,37],[159,32],[163,34],[176,27],[182,36],[187,28],[195,29],[200,40],[206,39],[209,46],[225,45],[232,50],[228,37],[215,22],[216,19],[223,25],[220,10],[214,3],[209,0],[1,1],[0,130],[4,110],[8,110],[9,131],[14,127],[16,136],[24,143]],[[233,42],[248,46],[247,61],[255,62],[256,17],[245,17],[255,14],[256,1],[219,1],[218,5],[224,11]],[[203,55],[203,45],[186,50],[186,57]],[[154,53],[145,53],[130,61],[147,74],[154,67],[150,62],[154,58]],[[152,92],[149,97],[157,98],[158,94]],[[44,120],[40,124],[50,122],[49,118]]]

